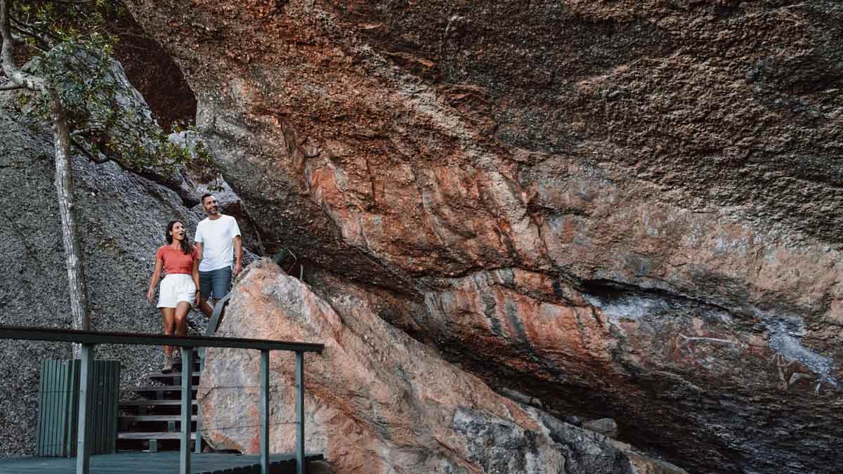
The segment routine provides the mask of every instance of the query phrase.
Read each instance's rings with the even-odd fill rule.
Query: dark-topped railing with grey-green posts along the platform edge
[[[76,342],[82,344],[82,374],[79,386],[77,474],[90,472],[91,392],[93,391],[94,346],[97,344],[181,347],[181,443],[180,473],[191,471],[191,352],[196,347],[228,347],[260,350],[260,472],[269,474],[269,352],[296,353],[296,472],[304,473],[304,353],[321,353],[325,344],[268,341],[238,337],[169,337],[128,332],[77,331],[52,327],[0,326],[0,339]],[[197,436],[197,441],[199,438]],[[201,442],[201,441],[199,441]]]

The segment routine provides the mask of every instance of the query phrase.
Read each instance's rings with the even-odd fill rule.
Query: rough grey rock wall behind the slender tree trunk
[[[48,127],[0,107],[3,325],[70,325],[51,143]],[[76,156],[72,169],[92,328],[160,333],[161,315],[145,298],[155,250],[169,220],[182,220],[192,234],[201,216],[175,191],[115,163]],[[192,313],[201,329],[204,319]],[[40,360],[68,357],[67,344],[0,341],[0,456],[34,450]],[[121,361],[124,388],[163,362],[157,347],[101,346],[96,357]]]

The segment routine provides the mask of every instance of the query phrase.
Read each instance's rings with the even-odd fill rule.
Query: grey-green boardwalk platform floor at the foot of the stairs
[[[306,455],[308,461],[319,461],[322,455]],[[296,471],[294,455],[271,455],[271,474]],[[75,458],[15,457],[0,459],[0,474],[74,474]],[[114,455],[92,455],[91,474],[179,474],[178,451],[158,453],[123,452]],[[191,456],[191,472],[195,474],[251,474],[260,472],[260,456],[202,454]]]

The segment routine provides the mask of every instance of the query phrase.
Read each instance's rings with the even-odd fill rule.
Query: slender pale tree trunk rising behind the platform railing
[[[56,89],[47,86],[53,119],[53,144],[56,148],[56,194],[58,213],[62,218],[62,244],[67,264],[67,287],[70,289],[70,311],[73,329],[88,331],[91,320],[88,311],[88,290],[82,265],[82,246],[76,225],[76,207],[73,205],[73,175],[70,166],[70,133],[62,100]],[[73,357],[78,358],[80,347],[73,345]]]

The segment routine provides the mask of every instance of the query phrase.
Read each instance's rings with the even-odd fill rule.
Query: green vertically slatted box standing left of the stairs
[[[41,363],[38,437],[40,457],[76,455],[81,361],[47,359]],[[91,454],[116,451],[120,362],[94,361],[90,424]]]

